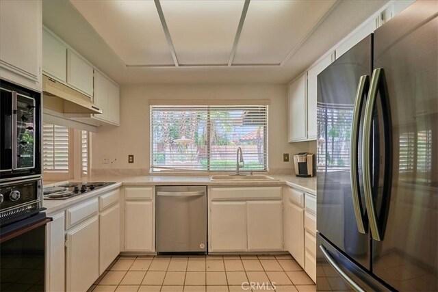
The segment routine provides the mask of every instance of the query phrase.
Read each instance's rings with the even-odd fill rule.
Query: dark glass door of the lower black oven
[[[1,291],[44,291],[46,225],[0,243]]]

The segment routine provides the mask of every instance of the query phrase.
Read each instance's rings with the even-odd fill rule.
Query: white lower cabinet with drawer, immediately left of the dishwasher
[[[153,209],[152,187],[125,188],[125,251],[155,250]]]

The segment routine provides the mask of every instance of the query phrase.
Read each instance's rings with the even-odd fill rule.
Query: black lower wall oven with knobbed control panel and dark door
[[[44,291],[46,217],[40,178],[0,183],[0,291]]]

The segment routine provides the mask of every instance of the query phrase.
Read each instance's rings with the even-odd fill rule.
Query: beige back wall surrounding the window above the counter
[[[287,142],[287,86],[282,84],[159,84],[126,85],[120,90],[120,127],[100,128],[92,134],[92,168],[149,170],[149,100],[157,99],[269,99],[269,168],[292,172],[283,153],[309,150],[308,142]],[[304,127],[304,125],[303,125]],[[134,163],[127,162],[134,155]],[[103,163],[104,159],[108,163]],[[116,159],[116,161],[114,161]],[[114,161],[113,163],[111,163]]]

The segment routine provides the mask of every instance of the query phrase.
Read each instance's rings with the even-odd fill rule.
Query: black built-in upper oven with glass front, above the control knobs
[[[0,181],[41,175],[41,94],[0,80]]]

